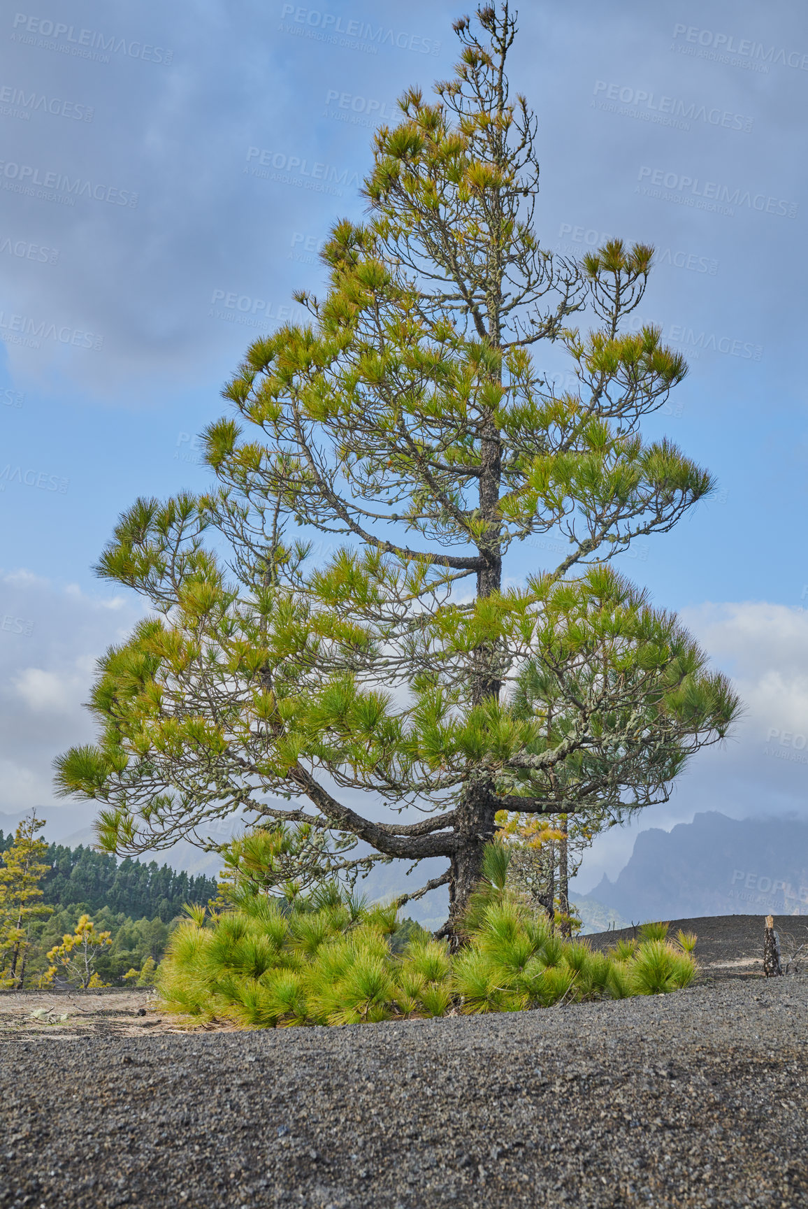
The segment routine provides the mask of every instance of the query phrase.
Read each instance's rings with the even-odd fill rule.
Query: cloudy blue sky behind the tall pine
[[[221,384],[320,280],[319,241],[361,214],[373,126],[450,73],[463,11],[74,0],[0,18],[0,811],[51,803],[53,756],[91,734],[93,659],[138,614],[91,569],[118,513],[207,481],[193,438]],[[748,711],[635,826],[804,816],[808,12],[572,0],[519,24],[539,236],[658,249],[640,317],[691,372],[647,432],[720,485],[621,566],[682,611]],[[289,181],[254,174],[262,157]],[[604,838],[583,883],[630,838]]]

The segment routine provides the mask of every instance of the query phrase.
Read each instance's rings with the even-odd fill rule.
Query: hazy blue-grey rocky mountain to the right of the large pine
[[[698,915],[808,915],[808,821],[727,818],[640,832],[615,879],[591,898],[639,922]]]

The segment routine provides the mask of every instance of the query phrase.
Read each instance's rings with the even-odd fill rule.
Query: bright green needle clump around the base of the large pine
[[[239,883],[221,908],[188,910],[172,935],[158,989],[167,1012],[266,1029],[482,1014],[658,995],[687,987],[696,938],[668,925],[609,953],[565,941],[506,887],[507,854],[492,845],[452,954],[395,904],[368,906],[335,884],[285,897]],[[255,886],[255,869],[250,870]],[[664,930],[664,931],[662,931]]]

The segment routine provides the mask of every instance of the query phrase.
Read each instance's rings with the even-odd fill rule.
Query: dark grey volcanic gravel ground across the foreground
[[[6,1034],[4,1209],[808,1205],[803,974],[406,1024],[147,1023]]]

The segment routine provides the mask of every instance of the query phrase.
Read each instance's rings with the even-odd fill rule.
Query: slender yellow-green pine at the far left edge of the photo
[[[0,864],[0,987],[21,989],[25,982],[25,962],[31,944],[31,924],[50,915],[52,907],[42,898],[41,881],[48,870],[42,857],[45,840],[36,833],[45,821],[36,812],[17,827],[14,841],[2,854]]]

